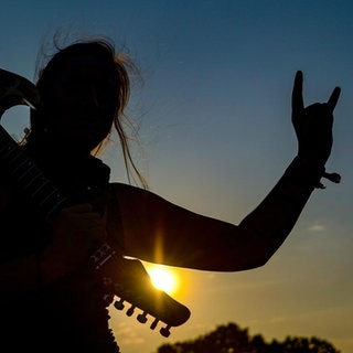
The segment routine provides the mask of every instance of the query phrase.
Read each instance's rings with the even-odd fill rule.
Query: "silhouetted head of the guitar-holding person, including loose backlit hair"
[[[133,67],[107,40],[82,41],[56,53],[40,69],[36,86],[43,105],[31,111],[26,141],[51,143],[71,153],[93,153],[104,147],[111,127],[118,132],[126,168],[132,167],[122,118]],[[143,182],[142,182],[143,183]]]

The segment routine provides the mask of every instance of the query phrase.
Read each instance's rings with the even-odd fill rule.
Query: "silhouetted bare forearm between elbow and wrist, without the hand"
[[[239,224],[256,237],[259,265],[265,264],[292,231],[311,193],[320,188],[322,165],[296,158],[265,200]]]

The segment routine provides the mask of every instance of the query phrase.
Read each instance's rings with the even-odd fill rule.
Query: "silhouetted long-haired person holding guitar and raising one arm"
[[[101,244],[108,242],[121,257],[185,268],[264,266],[327,175],[340,88],[328,103],[304,107],[303,77],[297,72],[292,124],[298,152],[253,212],[231,224],[162,199],[148,190],[129,152],[122,119],[130,67],[101,39],[58,49],[40,73],[41,105],[31,109],[19,148],[69,204],[43,217],[1,158],[1,341],[11,352],[119,352],[108,325],[107,284],[87,265]],[[129,176],[141,186],[111,182],[109,167],[97,157],[111,129],[119,135]],[[125,274],[129,270],[121,270],[121,286],[129,280],[121,279]]]

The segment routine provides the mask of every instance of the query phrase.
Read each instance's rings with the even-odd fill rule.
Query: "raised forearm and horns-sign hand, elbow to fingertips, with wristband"
[[[239,226],[255,232],[263,242],[264,263],[284,243],[315,188],[324,189],[322,176],[340,182],[339,174],[325,173],[331,154],[333,110],[341,89],[335,87],[323,104],[304,107],[302,73],[297,72],[292,90],[292,125],[298,153],[271,192]]]

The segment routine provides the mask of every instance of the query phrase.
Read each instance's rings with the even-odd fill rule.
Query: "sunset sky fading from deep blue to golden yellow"
[[[317,336],[353,351],[353,3],[352,1],[115,0],[2,1],[0,67],[34,81],[40,49],[106,35],[127,51],[128,115],[136,162],[149,188],[194,212],[238,224],[266,196],[297,152],[290,95],[303,72],[304,104],[342,94],[324,181],[296,227],[261,268],[211,272],[173,268],[174,298],[190,320],[165,339],[114,308],[124,353],[154,353],[236,322],[265,340]],[[1,121],[19,137],[25,107]],[[127,182],[119,149],[104,156],[113,181]]]

